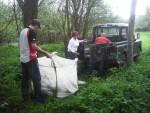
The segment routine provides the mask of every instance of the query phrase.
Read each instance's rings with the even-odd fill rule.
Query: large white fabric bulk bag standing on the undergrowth
[[[47,57],[38,58],[42,90],[49,95],[60,98],[75,93],[78,90],[77,61],[57,55],[53,56],[53,61],[57,73],[51,59]]]

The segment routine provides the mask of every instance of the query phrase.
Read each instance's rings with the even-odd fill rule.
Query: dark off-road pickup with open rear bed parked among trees
[[[95,39],[106,33],[111,40],[108,44],[94,44]],[[107,69],[119,67],[127,62],[128,24],[108,23],[99,24],[93,28],[93,38],[90,41],[80,43],[78,58],[87,69],[96,69],[101,75],[105,75]],[[137,60],[141,52],[140,35],[134,36],[134,60]]]

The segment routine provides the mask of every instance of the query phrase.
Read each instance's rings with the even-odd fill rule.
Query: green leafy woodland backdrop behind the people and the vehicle
[[[92,34],[93,24],[122,22],[118,16],[113,14],[111,8],[104,4],[104,0],[77,0],[76,2],[73,0],[23,1],[8,0],[8,2],[4,2],[0,0],[0,25],[2,26],[0,28],[0,44],[16,42],[18,39],[16,37],[18,37],[24,25],[27,24],[27,21],[32,19],[32,16],[41,21],[42,27],[39,39],[40,42],[44,43],[55,42],[55,40],[68,40],[73,30],[79,31],[81,38],[87,38]],[[32,6],[38,1],[38,7]],[[66,9],[67,2],[69,5],[68,10]],[[23,4],[24,8],[22,9]],[[25,8],[26,6],[33,9],[28,11]],[[26,11],[22,12],[22,10]]]

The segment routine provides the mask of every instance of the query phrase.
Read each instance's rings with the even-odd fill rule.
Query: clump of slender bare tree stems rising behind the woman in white
[[[64,35],[65,53],[67,53],[68,40],[71,37],[71,31],[76,30],[82,38],[86,37],[88,29],[89,15],[97,0],[65,0],[60,2],[58,12],[64,13],[62,26]],[[57,22],[58,23],[58,22]]]

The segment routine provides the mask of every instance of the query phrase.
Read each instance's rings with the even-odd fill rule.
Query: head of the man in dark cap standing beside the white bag
[[[40,29],[40,21],[38,19],[33,19],[31,20],[30,22],[30,25],[29,25],[34,31],[38,31],[38,29]]]

